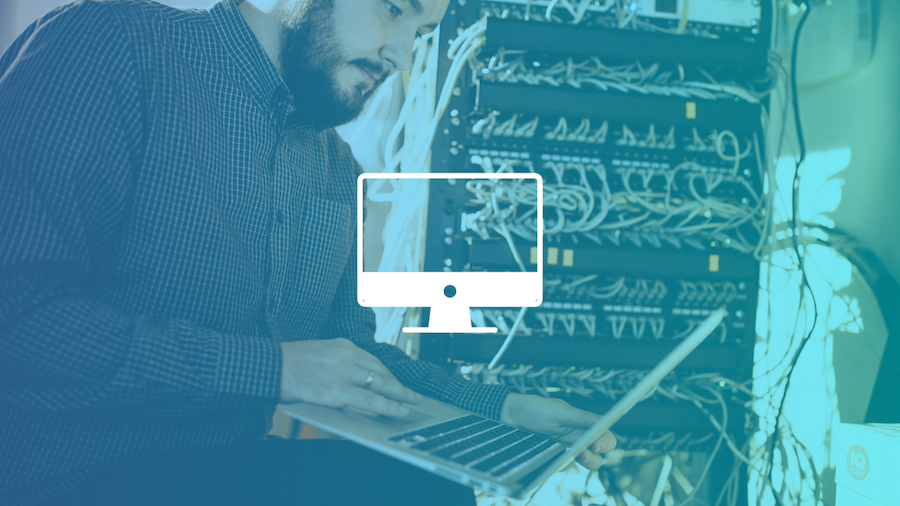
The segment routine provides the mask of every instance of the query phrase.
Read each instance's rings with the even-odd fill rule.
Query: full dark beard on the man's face
[[[279,2],[278,11],[285,28],[281,41],[282,78],[294,96],[294,111],[289,121],[325,130],[349,123],[363,111],[388,73],[377,62],[367,59],[347,61],[335,37],[332,16],[334,0],[299,2],[294,9]],[[305,12],[303,12],[303,7]],[[350,90],[341,89],[337,72],[344,64],[354,64],[376,78],[366,91],[366,82]]]

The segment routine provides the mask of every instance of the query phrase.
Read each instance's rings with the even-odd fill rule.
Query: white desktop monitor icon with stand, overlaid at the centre
[[[363,174],[358,182],[358,301],[367,307],[429,307],[416,332],[488,332],[472,327],[470,307],[536,307],[543,298],[543,181],[534,173]],[[383,223],[363,220],[363,205],[393,194],[391,212],[414,213],[423,196],[440,199],[440,216],[418,232],[437,235],[463,258],[415,262],[415,240],[391,241]],[[370,198],[366,200],[366,195]],[[433,204],[433,203],[432,203]],[[430,206],[432,213],[435,206]],[[369,217],[367,217],[369,218]],[[373,221],[375,217],[370,217]],[[372,227],[371,229],[369,227]],[[373,233],[373,230],[375,233]],[[412,233],[412,232],[410,232]],[[406,239],[411,239],[407,237]],[[388,244],[385,244],[388,242]],[[396,242],[396,244],[395,244]],[[402,244],[401,244],[402,243]],[[457,259],[460,255],[454,255]]]

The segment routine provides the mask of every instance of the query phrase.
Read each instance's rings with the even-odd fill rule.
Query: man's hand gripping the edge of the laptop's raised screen
[[[548,436],[562,436],[576,429],[587,429],[600,418],[588,411],[572,407],[562,399],[512,393],[506,397],[500,417],[503,423]],[[603,457],[599,454],[615,447],[616,438],[607,431],[575,461],[588,469],[599,469],[603,464]]]

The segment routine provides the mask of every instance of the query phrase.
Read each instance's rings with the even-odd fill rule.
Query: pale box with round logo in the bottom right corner
[[[832,451],[836,506],[900,504],[900,424],[842,423]]]

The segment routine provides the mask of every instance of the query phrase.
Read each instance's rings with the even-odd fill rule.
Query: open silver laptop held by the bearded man
[[[405,418],[355,408],[281,404],[285,415],[485,492],[521,498],[565,469],[672,372],[725,317],[713,311],[577,440],[567,443],[425,398]]]

